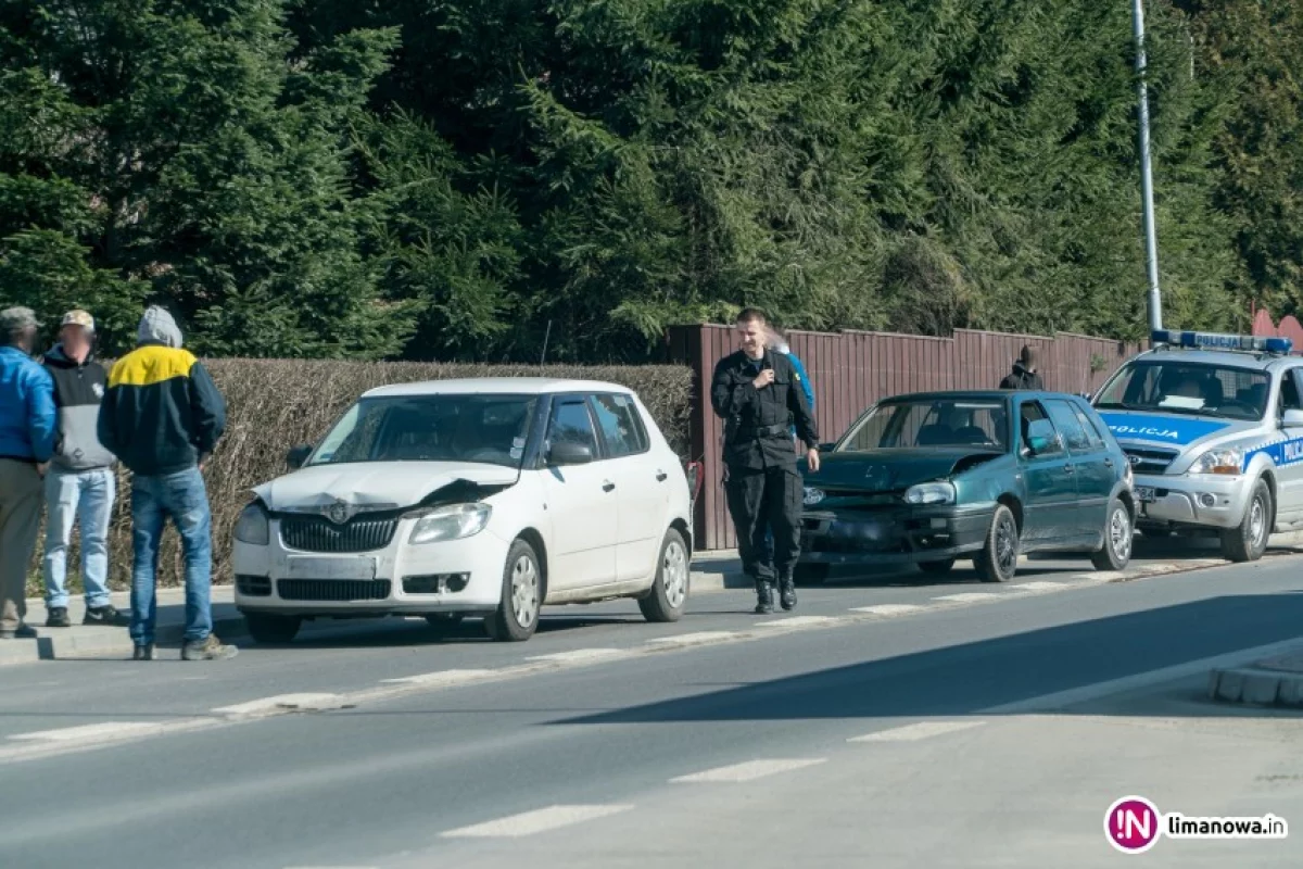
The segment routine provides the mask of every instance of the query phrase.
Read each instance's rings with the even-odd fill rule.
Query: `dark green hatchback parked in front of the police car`
[[[1019,555],[1131,560],[1131,465],[1091,405],[1054,392],[929,392],[881,401],[805,473],[799,582],[833,565],[972,559],[1006,582]]]

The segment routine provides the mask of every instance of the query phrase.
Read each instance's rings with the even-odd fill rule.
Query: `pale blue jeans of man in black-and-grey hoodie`
[[[46,474],[46,606],[68,606],[68,545],[81,524],[82,586],[87,607],[109,603],[108,524],[117,479],[108,468],[50,469]]]

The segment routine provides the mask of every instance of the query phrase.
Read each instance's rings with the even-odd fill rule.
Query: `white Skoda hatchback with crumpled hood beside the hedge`
[[[304,619],[485,616],[528,640],[545,603],[688,598],[687,473],[629,390],[534,378],[366,392],[235,529],[236,606],[259,642]]]

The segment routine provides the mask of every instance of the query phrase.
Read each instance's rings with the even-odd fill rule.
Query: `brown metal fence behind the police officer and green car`
[[[873,403],[904,392],[994,388],[1009,374],[1024,344],[1037,348],[1038,367],[1050,390],[1088,392],[1098,388],[1118,365],[1140,350],[1085,335],[1054,337],[956,330],[954,337],[885,332],[790,332],[814,387],[814,409],[823,440],[835,440]],[[710,409],[710,375],[715,362],[737,349],[727,326],[683,326],[670,331],[676,362],[696,373],[692,410],[692,453],[705,465],[697,500],[698,548],[736,545],[724,506],[719,457],[723,423]]]

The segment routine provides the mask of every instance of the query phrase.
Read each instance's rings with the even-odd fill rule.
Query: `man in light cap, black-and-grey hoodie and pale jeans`
[[[83,310],[64,314],[59,343],[46,353],[55,380],[59,430],[46,474],[46,627],[66,628],[68,548],[73,525],[81,525],[82,624],[126,627],[108,594],[108,525],[117,481],[113,453],[96,434],[99,404],[108,375],[94,358],[95,318]]]

